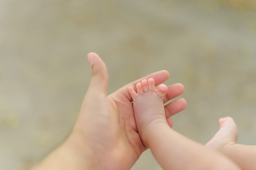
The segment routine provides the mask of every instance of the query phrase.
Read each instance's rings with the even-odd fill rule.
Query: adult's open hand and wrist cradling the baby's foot
[[[148,149],[141,141],[128,87],[143,79],[154,78],[159,85],[169,77],[159,71],[121,87],[107,96],[108,70],[95,53],[88,54],[92,78],[72,133],[65,142],[34,170],[130,170],[142,152]],[[184,86],[168,86],[164,103],[180,96]],[[164,107],[165,120],[170,126],[170,116],[184,110],[186,101],[179,98]]]

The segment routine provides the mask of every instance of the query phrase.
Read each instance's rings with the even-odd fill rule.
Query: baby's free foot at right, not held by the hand
[[[236,143],[238,129],[231,117],[219,119],[220,130],[206,144],[207,147],[224,152],[226,147]]]

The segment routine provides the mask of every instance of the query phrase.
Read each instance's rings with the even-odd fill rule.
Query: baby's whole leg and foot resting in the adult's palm
[[[136,88],[128,87],[128,91],[141,139],[164,170],[240,170],[227,157],[168,126],[163,104],[166,85],[155,89],[155,80],[149,78],[137,83]]]

